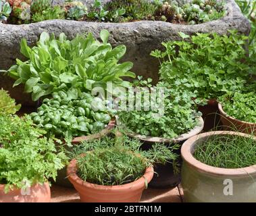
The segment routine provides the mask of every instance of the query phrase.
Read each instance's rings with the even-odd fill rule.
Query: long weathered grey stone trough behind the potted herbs
[[[194,34],[195,32],[217,32],[225,34],[230,29],[249,34],[250,25],[234,2],[227,0],[228,14],[220,20],[205,22],[197,25],[180,25],[168,22],[140,21],[128,23],[78,22],[70,20],[48,20],[35,24],[9,25],[0,23],[0,70],[7,70],[15,63],[16,58],[24,59],[20,55],[20,40],[26,38],[29,45],[35,45],[39,35],[43,32],[54,33],[58,36],[64,32],[68,38],[76,34],[93,32],[99,36],[102,29],[111,33],[110,43],[115,47],[124,44],[127,47],[123,61],[134,63],[133,71],[145,78],[158,80],[159,62],[149,54],[155,49],[161,49],[163,41],[178,40],[178,32]],[[0,88],[9,90],[11,97],[18,103],[34,105],[28,94],[22,94],[23,86],[11,88],[13,80],[0,75]]]

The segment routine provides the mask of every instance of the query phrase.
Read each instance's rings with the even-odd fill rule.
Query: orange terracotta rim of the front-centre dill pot
[[[147,184],[152,180],[154,175],[154,169],[153,167],[147,167],[145,170],[145,173],[142,177],[140,177],[138,180],[134,182],[130,182],[128,184],[122,184],[122,185],[115,185],[115,186],[103,186],[99,184],[92,184],[89,182],[85,182],[81,178],[76,175],[77,167],[76,167],[76,159],[72,159],[70,163],[68,164],[67,168],[67,176],[68,180],[72,184],[78,184],[79,186],[85,187],[85,188],[91,188],[95,190],[111,190],[111,191],[119,191],[119,190],[136,190],[138,188],[141,188],[142,185],[145,186],[145,180],[147,180]]]

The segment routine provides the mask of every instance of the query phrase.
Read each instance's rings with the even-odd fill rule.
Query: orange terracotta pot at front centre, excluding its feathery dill
[[[84,182],[76,175],[76,159],[70,161],[67,169],[68,180],[78,191],[81,202],[139,202],[146,187],[145,181],[151,181],[153,172],[153,167],[148,167],[143,177],[135,182],[120,186],[101,186]]]

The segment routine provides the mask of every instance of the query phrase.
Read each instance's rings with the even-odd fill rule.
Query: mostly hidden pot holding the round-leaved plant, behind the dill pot
[[[116,126],[116,118],[113,117],[109,121],[109,124],[107,125],[107,127],[105,129],[101,130],[101,132],[99,132],[97,134],[88,135],[88,136],[76,137],[76,138],[74,138],[74,140],[72,140],[72,144],[73,145],[80,144],[80,142],[83,142],[83,141],[99,139],[104,136],[107,136],[107,134],[109,134],[111,132],[111,130],[113,130],[113,128],[115,128],[115,126]],[[67,147],[67,148],[69,150],[71,150],[70,147]],[[57,171],[57,178],[56,178],[55,184],[57,184],[59,186],[67,187],[67,188],[73,188],[73,185],[70,183],[70,181],[68,181],[68,178],[67,178],[67,167],[63,167],[63,169],[60,169]]]

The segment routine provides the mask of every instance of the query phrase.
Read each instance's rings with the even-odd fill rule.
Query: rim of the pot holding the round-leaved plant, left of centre
[[[94,139],[98,139],[98,138],[101,138],[103,136],[106,136],[107,134],[109,134],[109,132],[113,128],[115,128],[115,126],[116,126],[116,117],[112,117],[110,119],[109,124],[107,125],[106,128],[104,128],[103,130],[101,130],[97,134],[91,134],[91,135],[88,135],[88,136],[78,136],[78,137],[75,137],[72,140],[72,144],[79,144],[80,142],[83,142],[83,141],[94,140]]]

